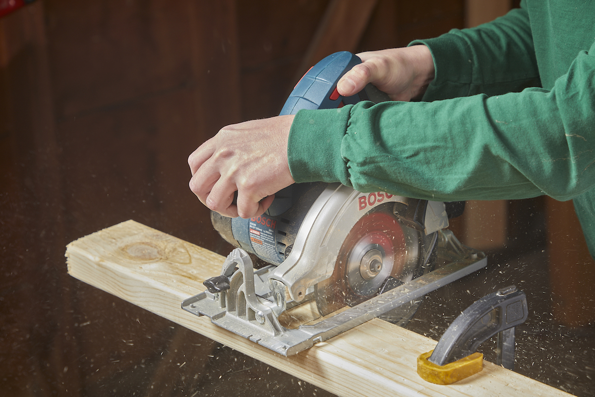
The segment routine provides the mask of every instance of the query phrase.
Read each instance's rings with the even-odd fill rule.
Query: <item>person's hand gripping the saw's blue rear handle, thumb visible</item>
[[[343,96],[354,95],[372,83],[393,101],[411,101],[424,95],[434,79],[434,60],[425,45],[362,52],[358,57],[362,63],[337,83]]]

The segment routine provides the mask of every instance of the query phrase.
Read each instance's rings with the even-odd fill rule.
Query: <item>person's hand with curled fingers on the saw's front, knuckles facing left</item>
[[[206,207],[227,217],[250,218],[265,212],[275,193],[294,183],[287,162],[293,117],[245,121],[221,129],[188,158],[190,190]]]

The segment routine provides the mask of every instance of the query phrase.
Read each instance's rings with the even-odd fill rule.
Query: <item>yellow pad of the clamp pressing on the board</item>
[[[429,361],[433,350],[419,355],[417,373],[421,379],[437,385],[450,385],[483,370],[483,354],[474,353],[445,365]]]

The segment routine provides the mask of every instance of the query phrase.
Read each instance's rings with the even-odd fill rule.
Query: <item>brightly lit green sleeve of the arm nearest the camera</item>
[[[412,198],[566,200],[595,185],[595,48],[552,90],[300,111],[296,182],[342,182]]]

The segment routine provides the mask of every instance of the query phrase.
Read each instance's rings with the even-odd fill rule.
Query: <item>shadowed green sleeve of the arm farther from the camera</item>
[[[453,29],[428,40],[436,77],[423,101],[478,93],[500,95],[541,86],[531,24],[525,8],[472,29]]]

